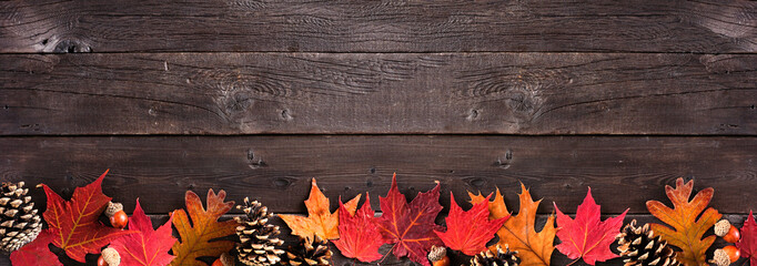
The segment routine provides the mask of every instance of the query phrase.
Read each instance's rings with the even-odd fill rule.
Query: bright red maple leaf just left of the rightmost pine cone
[[[599,205],[592,197],[592,187],[588,188],[584,202],[578,205],[576,219],[563,214],[557,208],[557,204],[555,204],[555,209],[557,211],[557,227],[559,227],[557,237],[563,242],[556,248],[561,253],[571,259],[583,257],[584,262],[589,265],[618,257],[609,250],[609,245],[620,233],[620,226],[628,209],[617,217],[602,222]]]

